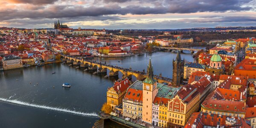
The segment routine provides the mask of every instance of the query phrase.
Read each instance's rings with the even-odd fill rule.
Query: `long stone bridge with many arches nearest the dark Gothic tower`
[[[121,72],[123,74],[122,79],[131,78],[131,76],[133,75],[137,78],[137,80],[143,81],[147,77],[147,73],[144,73],[144,72],[117,67],[117,66],[108,65],[108,64],[102,64],[96,61],[85,60],[83,58],[76,58],[76,57],[71,57],[67,55],[61,55],[61,58],[65,59],[67,63],[72,63],[73,65],[78,65],[79,67],[88,67],[88,70],[98,70],[98,73],[106,73],[108,69],[110,70],[109,76],[118,76],[118,73]],[[159,83],[172,82],[172,79],[169,79],[166,77],[154,75],[154,78]]]

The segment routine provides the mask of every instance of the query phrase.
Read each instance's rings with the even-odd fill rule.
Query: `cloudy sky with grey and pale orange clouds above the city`
[[[183,29],[256,26],[256,0],[0,0],[0,27]]]

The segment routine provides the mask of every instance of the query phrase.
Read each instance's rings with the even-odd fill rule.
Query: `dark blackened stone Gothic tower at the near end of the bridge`
[[[176,60],[172,61],[172,86],[180,86],[183,82],[184,59],[181,60],[180,50],[178,50]]]

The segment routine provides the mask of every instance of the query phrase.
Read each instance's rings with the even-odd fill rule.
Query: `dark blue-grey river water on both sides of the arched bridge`
[[[142,71],[146,70],[149,58],[154,74],[172,78],[172,60],[176,53],[95,60]],[[181,54],[181,58],[193,61],[191,54]],[[99,119],[97,113],[106,102],[108,87],[113,86],[118,77],[104,78],[106,74],[93,75],[95,71],[83,72],[84,69],[75,67],[57,63],[0,71],[0,128],[91,128]],[[119,78],[121,76],[119,73]],[[63,88],[64,82],[72,87]],[[106,127],[119,128],[120,125],[107,122]]]

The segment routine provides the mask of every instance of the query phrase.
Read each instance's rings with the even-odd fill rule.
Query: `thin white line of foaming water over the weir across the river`
[[[87,117],[94,117],[94,118],[96,118],[98,116],[97,113],[95,113],[95,112],[93,112],[93,113],[84,113],[84,112],[81,112],[81,111],[73,111],[73,110],[70,110],[68,108],[50,107],[50,106],[46,106],[46,105],[36,105],[36,104],[28,103],[28,102],[18,101],[16,99],[12,100],[12,99],[10,99],[12,97],[13,96],[10,96],[9,99],[0,98],[0,101],[10,103],[10,104],[14,104],[14,105],[25,106],[25,107],[45,109],[45,110],[50,110],[50,111],[62,112],[62,113],[69,113],[69,114],[77,115],[77,116],[87,116]]]

